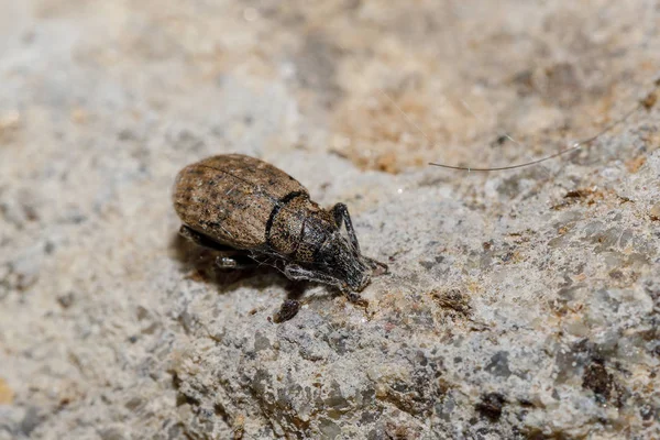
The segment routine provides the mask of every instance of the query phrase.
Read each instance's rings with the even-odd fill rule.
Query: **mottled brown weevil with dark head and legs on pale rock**
[[[360,252],[345,205],[322,209],[296,179],[254,157],[228,154],[188,165],[176,178],[174,208],[184,237],[222,252],[220,267],[240,267],[248,256],[289,279],[336,286],[351,300],[373,274],[387,271]]]

